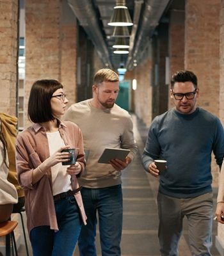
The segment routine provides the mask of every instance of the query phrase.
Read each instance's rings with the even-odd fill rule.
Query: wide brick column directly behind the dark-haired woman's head
[[[60,0],[26,1],[25,113],[34,81],[61,80],[61,9]]]

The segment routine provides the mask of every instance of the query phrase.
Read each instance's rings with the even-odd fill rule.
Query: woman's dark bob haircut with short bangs
[[[44,79],[36,81],[29,94],[28,117],[34,123],[54,120],[51,111],[51,97],[53,93],[63,88],[57,80]]]

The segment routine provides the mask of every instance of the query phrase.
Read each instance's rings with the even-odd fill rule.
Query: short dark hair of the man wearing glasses
[[[180,70],[173,74],[171,79],[171,88],[173,88],[176,82],[192,82],[194,84],[195,89],[198,86],[198,79],[196,78],[196,75],[189,70]]]

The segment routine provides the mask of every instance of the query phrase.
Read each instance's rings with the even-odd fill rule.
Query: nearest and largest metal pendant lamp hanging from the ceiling
[[[125,0],[116,0],[116,6],[113,8],[113,15],[108,23],[109,26],[132,26],[132,20]]]

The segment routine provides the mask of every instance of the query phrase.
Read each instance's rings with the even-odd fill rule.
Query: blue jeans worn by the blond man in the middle
[[[95,235],[97,212],[102,256],[120,256],[122,237],[123,200],[122,186],[81,190],[87,225],[81,228],[79,236],[80,256],[96,256]]]

